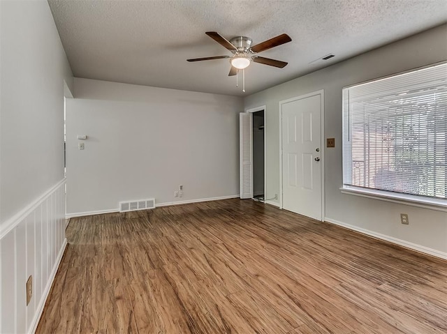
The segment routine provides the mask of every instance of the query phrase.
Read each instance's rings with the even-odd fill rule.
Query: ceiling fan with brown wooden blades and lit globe
[[[228,76],[236,75],[237,70],[243,70],[244,68],[247,68],[247,66],[250,65],[251,61],[253,61],[254,63],[263,63],[264,65],[274,66],[278,68],[284,68],[284,66],[287,65],[285,61],[279,61],[257,55],[259,52],[271,49],[272,47],[277,47],[278,45],[291,42],[292,39],[286,33],[283,33],[282,35],[276,36],[274,38],[270,38],[270,40],[265,40],[263,43],[256,44],[253,47],[251,46],[251,38],[246,36],[237,36],[235,38],[231,38],[228,41],[226,40],[226,38],[220,36],[219,33],[217,33],[216,31],[207,31],[206,34],[214,39],[217,43],[230,50],[230,52],[233,53],[233,56],[210,56],[205,58],[187,59],[187,61],[204,61],[229,58],[231,68]]]

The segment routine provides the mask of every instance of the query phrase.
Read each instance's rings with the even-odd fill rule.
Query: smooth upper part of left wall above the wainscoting
[[[71,70],[46,1],[1,2],[3,225],[64,177],[63,80]]]

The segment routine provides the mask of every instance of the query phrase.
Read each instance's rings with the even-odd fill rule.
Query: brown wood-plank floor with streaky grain
[[[66,236],[37,333],[447,333],[447,261],[251,200]]]

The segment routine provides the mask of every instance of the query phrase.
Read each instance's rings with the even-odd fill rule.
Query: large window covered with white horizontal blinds
[[[447,204],[446,133],[447,63],[343,89],[343,188]]]

